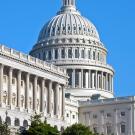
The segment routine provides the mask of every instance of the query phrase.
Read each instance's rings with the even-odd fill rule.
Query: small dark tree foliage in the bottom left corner
[[[0,135],[10,135],[7,123],[0,123]]]

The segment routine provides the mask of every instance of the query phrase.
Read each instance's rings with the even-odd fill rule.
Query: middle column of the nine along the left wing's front
[[[37,109],[37,80],[38,77],[34,77],[34,90],[33,90],[33,110]]]

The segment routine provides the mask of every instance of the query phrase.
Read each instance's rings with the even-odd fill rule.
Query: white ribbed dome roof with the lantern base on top
[[[69,0],[70,2],[70,0]],[[88,36],[99,39],[95,26],[76,10],[75,1],[63,0],[63,6],[57,16],[46,23],[40,31],[38,42],[50,37]]]

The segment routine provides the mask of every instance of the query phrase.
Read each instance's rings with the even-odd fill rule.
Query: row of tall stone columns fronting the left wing
[[[7,90],[5,90],[3,86],[3,78],[4,78],[4,68],[6,68],[7,71]],[[24,88],[24,109],[29,111],[30,109],[30,83],[32,82],[33,90],[32,90],[32,110],[33,111],[39,111],[44,112],[51,115],[56,115],[60,117],[64,116],[64,102],[65,102],[65,94],[64,94],[64,85],[59,84],[57,81],[52,81],[34,74],[26,73],[24,71],[7,67],[2,64],[0,64],[0,105],[2,106],[4,95],[3,93],[7,92],[6,97],[6,106],[12,109],[12,81],[13,81],[13,75],[16,76],[16,108],[21,108],[21,81],[24,79],[25,82],[25,88]],[[40,96],[37,97],[38,93],[38,85],[40,87]],[[53,91],[53,92],[52,92]],[[60,94],[61,92],[61,94]],[[54,94],[54,95],[52,95]],[[52,101],[52,96],[54,97],[54,100]],[[39,110],[37,110],[37,102],[39,98]],[[53,107],[52,107],[53,104]]]

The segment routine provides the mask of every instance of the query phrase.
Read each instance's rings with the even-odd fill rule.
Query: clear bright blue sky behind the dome
[[[62,0],[1,0],[0,43],[28,53]],[[76,0],[97,27],[115,69],[115,95],[135,95],[135,0]]]

